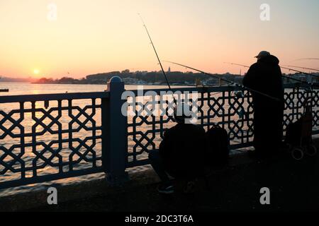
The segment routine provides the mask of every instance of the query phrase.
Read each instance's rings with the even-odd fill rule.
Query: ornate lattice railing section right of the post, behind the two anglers
[[[307,97],[312,97],[313,106],[313,134],[319,133],[319,90],[310,90],[305,85],[297,83],[285,85],[285,113],[284,130],[286,126],[303,114],[303,102]],[[152,92],[149,98],[143,98],[135,102],[136,110],[133,118],[128,118],[128,167],[136,167],[148,164],[147,153],[159,148],[164,131],[174,125],[172,117],[156,115],[141,115],[150,103],[157,102],[163,90],[144,90],[143,93],[135,90],[134,94],[145,95]],[[211,88],[178,88],[172,92],[197,92],[198,100],[198,124],[204,129],[209,129],[213,124],[218,124],[228,131],[230,148],[245,148],[252,145],[254,136],[252,119],[252,96],[250,92],[237,87],[211,87]],[[242,95],[238,95],[240,93]],[[153,94],[154,93],[154,94]],[[156,94],[156,95],[155,95]],[[175,95],[179,99],[178,95]],[[191,98],[190,98],[191,99]],[[172,100],[164,106],[166,112],[172,108]],[[170,109],[172,111],[172,109]],[[145,111],[144,113],[147,113]]]

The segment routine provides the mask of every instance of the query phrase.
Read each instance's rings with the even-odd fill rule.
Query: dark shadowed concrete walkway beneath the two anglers
[[[315,141],[319,147],[319,140]],[[247,155],[233,157],[228,167],[198,181],[194,194],[177,191],[157,194],[159,182],[152,170],[130,175],[124,186],[111,187],[104,180],[57,188],[57,206],[47,205],[46,191],[0,198],[0,210],[30,211],[288,211],[319,209],[318,157],[297,162],[290,155],[257,161]],[[271,191],[271,205],[262,206],[260,189]],[[179,189],[179,188],[178,188]]]

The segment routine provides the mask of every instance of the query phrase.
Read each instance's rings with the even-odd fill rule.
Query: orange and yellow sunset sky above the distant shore
[[[259,18],[265,3],[269,21]],[[0,0],[0,76],[158,71],[138,13],[162,60],[239,73],[223,62],[250,65],[268,50],[281,64],[319,68],[319,61],[293,61],[319,58],[318,0]]]

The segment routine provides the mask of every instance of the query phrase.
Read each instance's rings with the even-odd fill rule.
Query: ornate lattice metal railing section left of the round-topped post
[[[0,97],[0,186],[103,172],[101,100],[108,93]]]

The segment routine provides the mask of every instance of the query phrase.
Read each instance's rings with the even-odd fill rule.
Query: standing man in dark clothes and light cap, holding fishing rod
[[[243,85],[279,100],[272,100],[252,93],[254,107],[254,153],[271,155],[276,153],[283,136],[284,87],[279,59],[267,51],[257,55],[257,63],[250,66]]]

